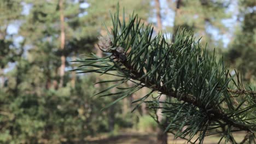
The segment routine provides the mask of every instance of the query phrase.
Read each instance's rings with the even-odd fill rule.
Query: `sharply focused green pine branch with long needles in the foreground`
[[[99,43],[106,57],[92,54],[75,61],[82,64],[75,69],[78,73],[119,77],[96,94],[118,96],[104,109],[148,87],[152,91],[132,103],[141,104],[158,92],[159,96],[147,103],[153,104],[150,109],[162,109],[169,120],[166,131],[176,137],[190,141],[197,136],[195,142],[203,143],[205,136],[222,134],[220,141],[224,138],[236,143],[233,131],[256,131],[255,92],[246,90],[238,74],[231,76],[223,59],[217,61],[214,52],[211,55],[203,49],[193,34],[179,29],[173,43],[162,33],[153,37],[153,28],[144,25],[138,15],[132,14],[128,22],[120,20],[119,9],[112,16],[112,25],[108,38],[101,38]],[[134,86],[120,88],[126,81]],[[109,94],[110,89],[117,91]],[[166,101],[159,101],[161,95],[167,96]],[[164,106],[159,107],[159,103]],[[218,128],[222,131],[211,132]]]

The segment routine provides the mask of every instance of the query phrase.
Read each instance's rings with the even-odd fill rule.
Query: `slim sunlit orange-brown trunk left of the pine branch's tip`
[[[60,45],[60,49],[62,51],[59,87],[62,87],[63,86],[63,78],[64,78],[64,75],[65,75],[65,62],[66,62],[66,57],[63,53],[63,50],[65,48],[65,21],[64,21],[64,13],[63,13],[63,0],[59,1],[59,7],[60,7],[60,22],[61,22],[61,38],[60,38],[61,45]]]

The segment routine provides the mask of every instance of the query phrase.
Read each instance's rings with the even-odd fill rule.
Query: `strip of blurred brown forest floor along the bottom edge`
[[[243,140],[243,136],[245,134],[243,133],[236,133],[234,134],[235,140],[237,142],[241,142]],[[218,136],[208,136],[205,138],[203,143],[206,144],[214,144],[218,143],[220,137]],[[124,143],[124,144],[154,144],[156,143],[156,133],[152,134],[146,134],[146,133],[136,133],[136,132],[131,132],[131,133],[119,133],[115,136],[107,136],[107,135],[100,135],[97,137],[91,137],[86,139],[86,143],[90,144],[119,144],[119,143]],[[182,140],[182,139],[174,139],[173,135],[168,135],[168,144],[182,144],[182,143],[187,143],[187,141]],[[225,143],[225,140],[222,141],[222,143]]]

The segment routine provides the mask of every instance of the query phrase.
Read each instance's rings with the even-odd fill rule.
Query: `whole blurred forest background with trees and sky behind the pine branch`
[[[69,71],[78,66],[71,61],[83,55],[103,55],[97,40],[107,34],[103,22],[111,28],[109,11],[118,2],[127,17],[134,10],[144,23],[153,23],[155,33],[193,31],[255,87],[255,0],[1,0],[0,143],[85,143],[122,131],[154,134],[158,126],[145,104],[131,113],[132,99],[148,89],[101,111],[115,99],[93,96],[107,87],[94,85],[106,76]]]

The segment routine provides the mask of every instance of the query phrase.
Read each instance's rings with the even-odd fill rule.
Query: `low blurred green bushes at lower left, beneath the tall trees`
[[[94,81],[92,79],[88,77],[77,82],[84,86]],[[92,98],[91,95],[96,92],[92,83],[88,89],[78,86],[57,91],[44,89],[37,91],[39,94],[25,93],[16,98],[4,92],[5,97],[1,94],[1,101],[6,104],[1,106],[1,110],[5,109],[6,114],[1,113],[0,116],[5,123],[1,129],[1,142],[71,142],[86,135],[108,131],[108,113],[100,114],[100,107],[110,101],[106,99],[102,103],[102,100]],[[95,116],[95,113],[99,115]],[[13,134],[9,129],[13,130]]]

